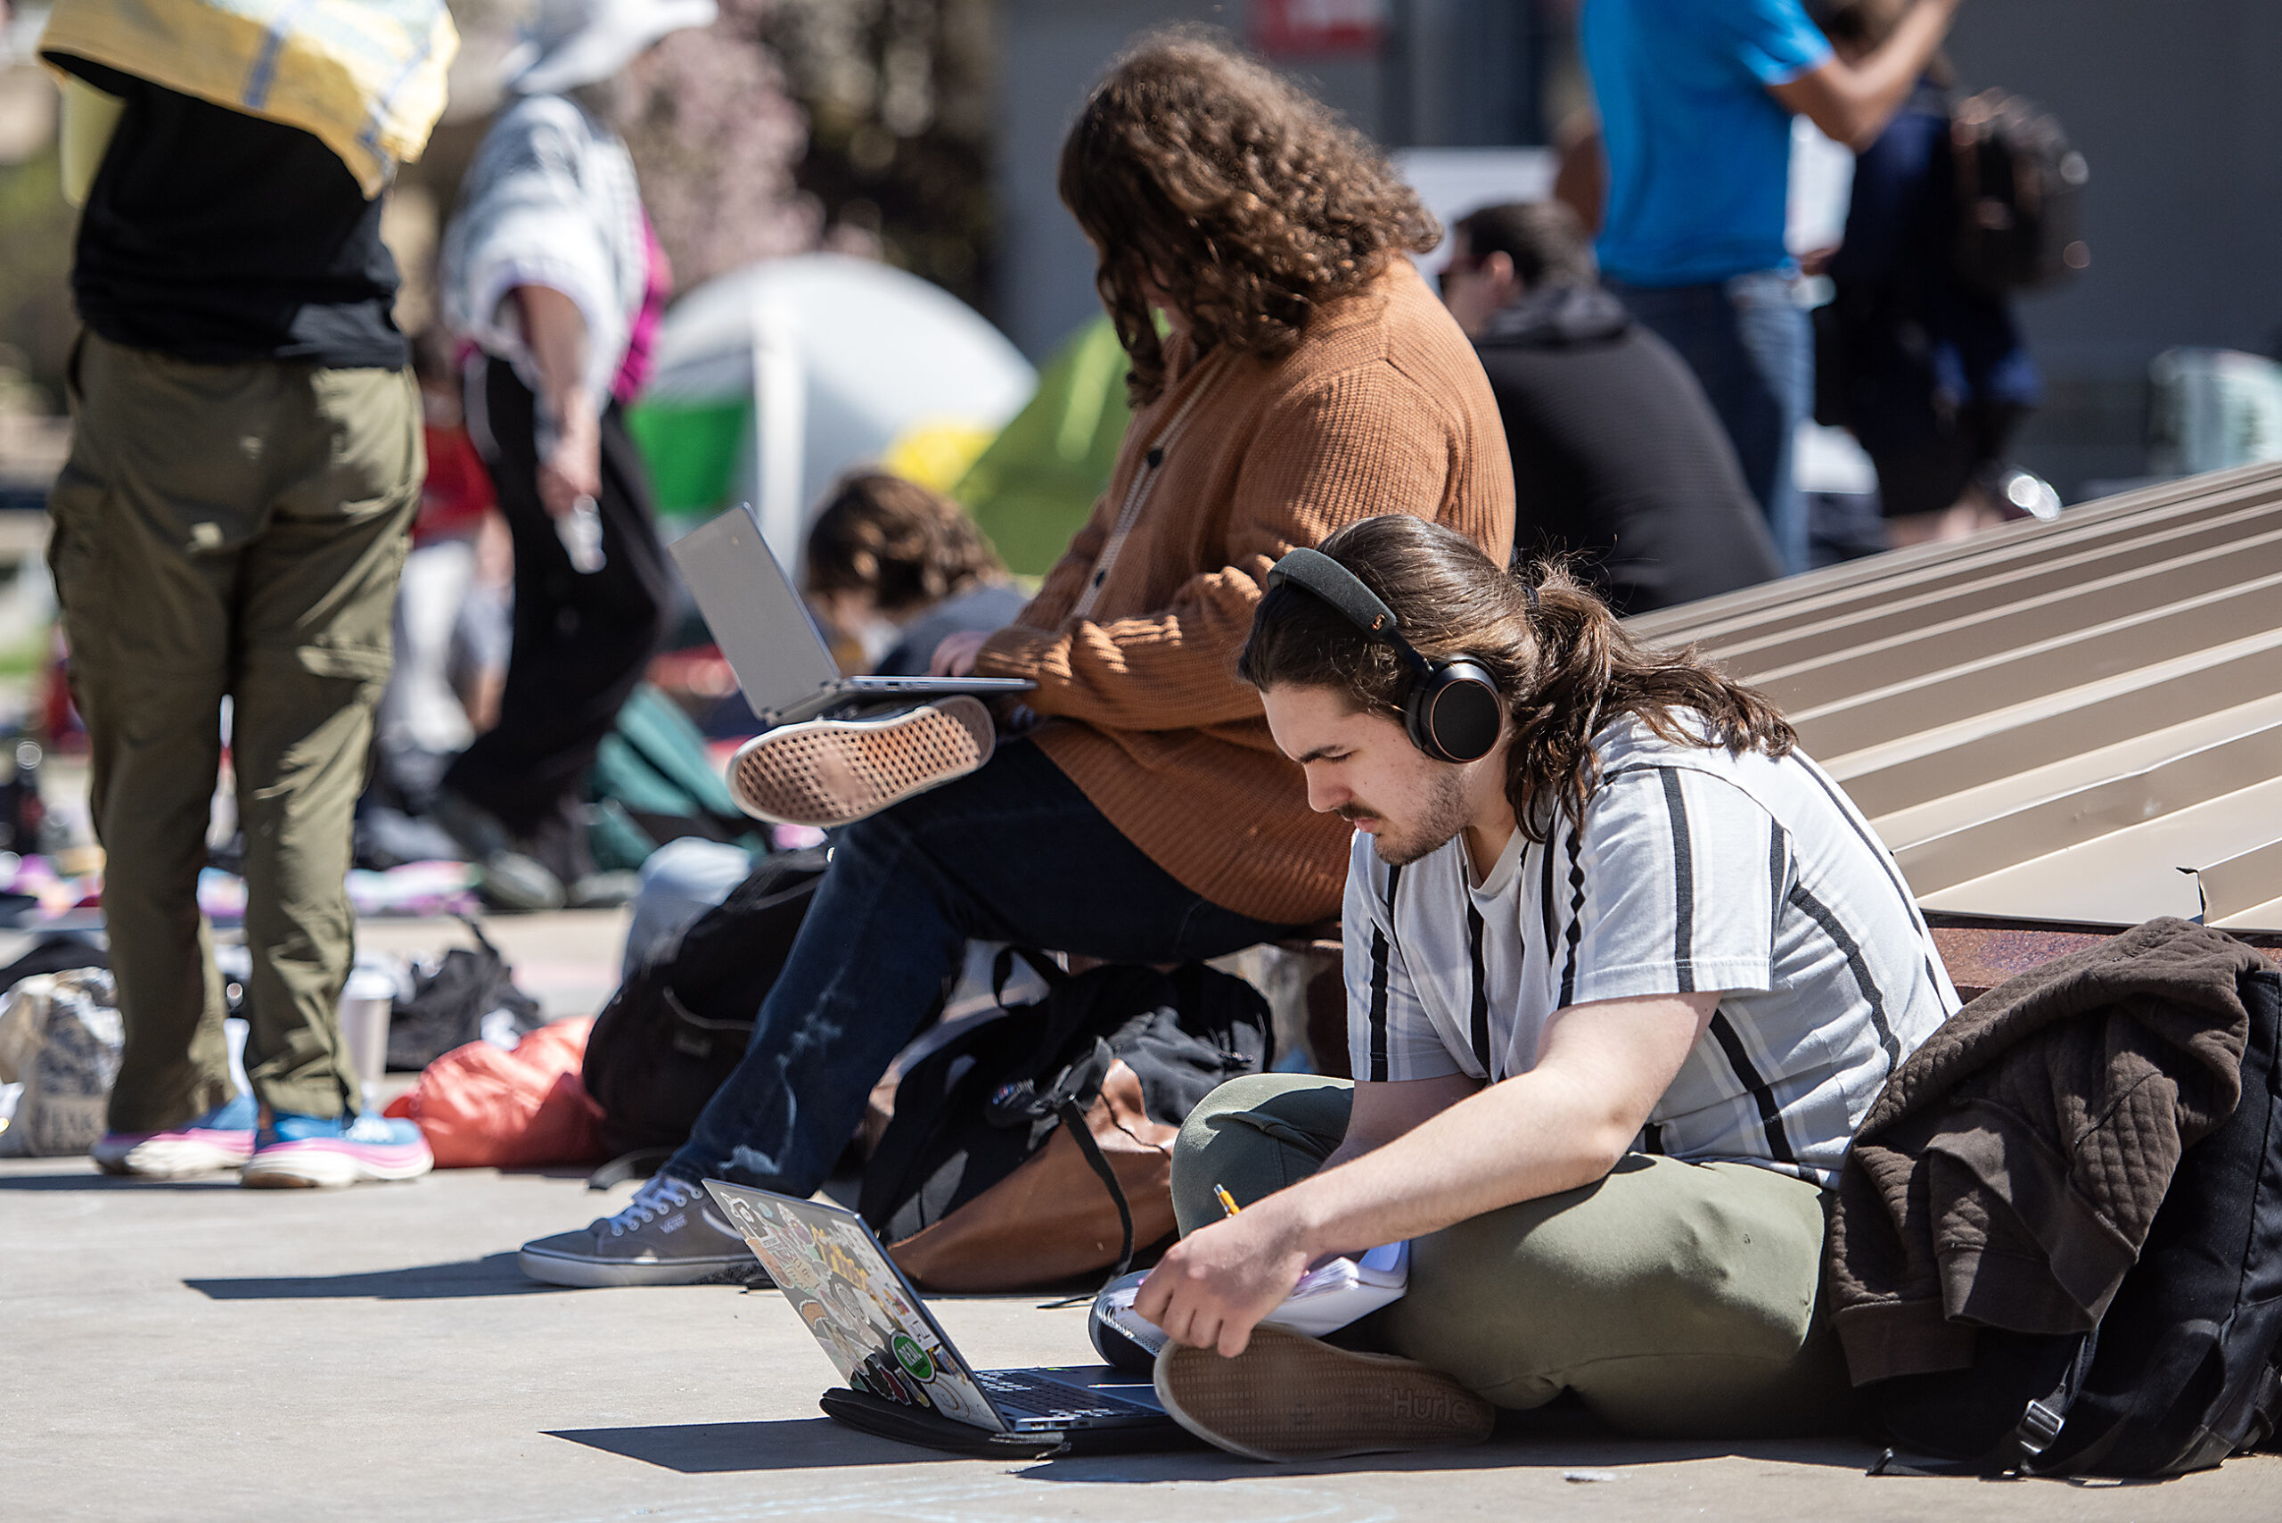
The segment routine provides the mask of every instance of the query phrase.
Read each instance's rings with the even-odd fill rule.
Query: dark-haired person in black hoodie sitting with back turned
[[[1600,288],[1577,212],[1515,201],[1458,219],[1442,301],[1506,422],[1515,564],[1575,555],[1618,614],[1782,575],[1702,386]]]

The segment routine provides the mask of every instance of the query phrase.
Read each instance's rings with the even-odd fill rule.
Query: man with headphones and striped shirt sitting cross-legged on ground
[[[1187,1235],[1136,1302],[1187,1345],[1175,1416],[1262,1459],[1472,1441],[1561,1391],[1643,1434],[1844,1427],[1823,1192],[1958,998],[1791,726],[1415,518],[1287,557],[1241,674],[1356,824],[1356,1082],[1232,1080],[1182,1128]],[[1257,1327],[1406,1238],[1358,1329],[1401,1359]]]

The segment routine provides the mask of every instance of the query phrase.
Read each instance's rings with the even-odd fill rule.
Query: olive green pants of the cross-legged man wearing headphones
[[[1257,1073],[1221,1085],[1173,1146],[1180,1231],[1317,1171],[1351,1085]],[[1410,1244],[1410,1290],[1358,1340],[1454,1375],[1497,1407],[1575,1391],[1636,1434],[1851,1432],[1846,1368],[1819,1311],[1823,1192],[1755,1165],[1627,1155],[1584,1190],[1506,1206]]]

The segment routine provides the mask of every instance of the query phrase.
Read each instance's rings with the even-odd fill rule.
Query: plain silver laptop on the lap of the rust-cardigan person
[[[837,708],[947,692],[1029,692],[1013,676],[840,676],[808,605],[739,505],[673,541],[673,564],[696,594],[728,669],[764,726],[815,719]]]

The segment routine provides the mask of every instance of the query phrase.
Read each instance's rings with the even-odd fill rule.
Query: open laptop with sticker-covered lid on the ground
[[[705,1190],[851,1388],[993,1434],[1178,1434],[1157,1388],[1111,1365],[970,1365],[856,1212],[717,1178]]]

